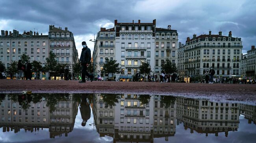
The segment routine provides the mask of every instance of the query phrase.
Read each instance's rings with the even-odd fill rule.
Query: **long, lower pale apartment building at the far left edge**
[[[48,35],[39,35],[32,31],[19,34],[19,31],[1,31],[0,36],[0,61],[9,67],[11,62],[20,60],[22,54],[27,54],[30,57],[30,62],[38,61],[45,66],[46,58],[49,55],[49,38]],[[14,78],[17,77],[13,75]],[[46,79],[46,74],[41,73],[40,77]],[[9,78],[9,75],[7,75]]]

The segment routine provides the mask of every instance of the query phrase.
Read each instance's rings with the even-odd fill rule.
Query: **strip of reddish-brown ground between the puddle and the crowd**
[[[209,98],[256,105],[256,85],[118,81],[0,80],[1,93],[131,93]]]

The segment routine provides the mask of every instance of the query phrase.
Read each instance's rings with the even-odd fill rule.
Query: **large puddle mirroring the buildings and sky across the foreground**
[[[255,143],[256,106],[137,94],[0,94],[0,142]]]

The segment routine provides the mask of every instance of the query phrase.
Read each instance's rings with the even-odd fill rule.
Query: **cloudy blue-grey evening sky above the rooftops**
[[[79,55],[81,42],[93,50],[93,34],[100,27],[111,28],[118,22],[152,22],[178,30],[179,42],[193,34],[219,31],[240,37],[243,53],[256,45],[255,0],[0,0],[0,29],[21,33],[48,34],[49,25],[68,27],[74,33]]]

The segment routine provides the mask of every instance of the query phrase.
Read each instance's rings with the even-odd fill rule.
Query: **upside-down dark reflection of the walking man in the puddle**
[[[90,105],[87,102],[88,96],[89,96],[89,94],[82,95],[82,98],[81,98],[82,102],[81,102],[81,105],[80,105],[80,113],[81,113],[81,116],[82,116],[82,119],[83,119],[83,122],[82,122],[83,127],[86,125],[87,120],[90,119],[90,117],[91,117]]]

